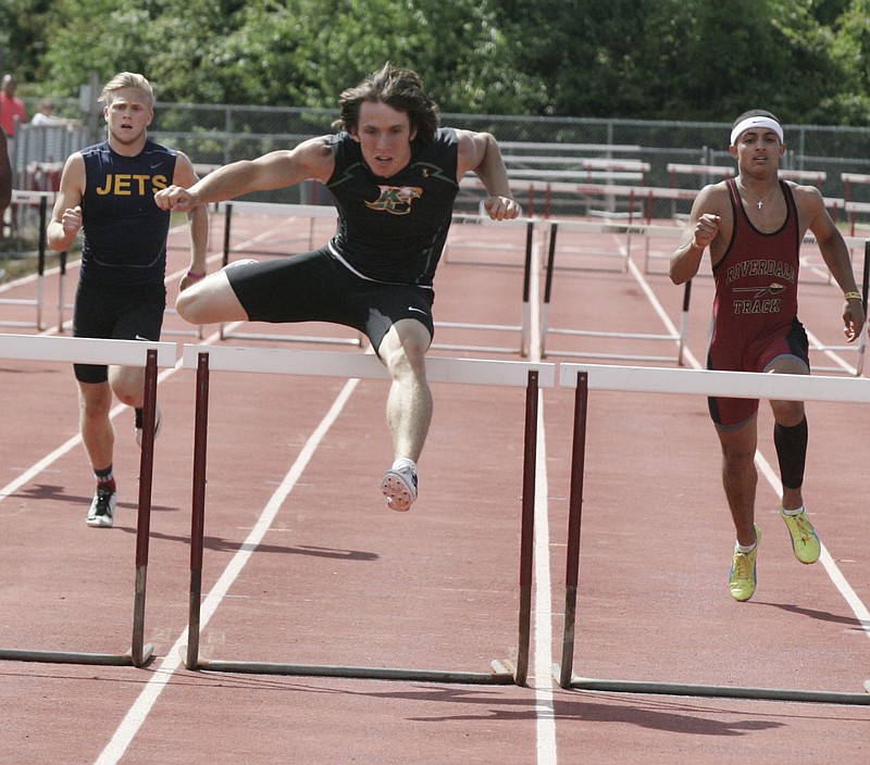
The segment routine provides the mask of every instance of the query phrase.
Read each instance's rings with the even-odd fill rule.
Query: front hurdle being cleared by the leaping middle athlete
[[[540,387],[555,384],[555,365],[533,362],[430,358],[432,382],[525,387],[525,424],[520,541],[519,645],[515,662],[495,660],[488,673],[364,666],[287,664],[206,660],[200,656],[202,553],[206,505],[209,379],[212,371],[388,380],[372,354],[335,351],[291,351],[239,347],[185,346],[183,366],[196,369],[194,490],[190,531],[190,606],[185,666],[227,673],[418,680],[481,685],[525,685],[531,641],[533,529],[537,459],[537,410]]]

